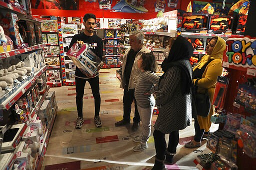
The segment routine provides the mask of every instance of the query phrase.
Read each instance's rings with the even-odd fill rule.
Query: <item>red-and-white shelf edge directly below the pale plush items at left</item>
[[[2,106],[5,109],[9,109],[24,93],[25,91],[32,86],[32,84],[36,81],[36,79],[44,73],[47,69],[47,65],[42,67],[39,71],[34,73],[34,76],[30,80],[22,81],[22,85],[13,93],[11,94],[6,100],[2,102]]]

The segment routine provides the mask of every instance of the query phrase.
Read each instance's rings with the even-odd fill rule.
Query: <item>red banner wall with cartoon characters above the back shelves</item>
[[[39,16],[79,17],[89,12],[98,18],[150,19],[156,17],[158,11],[186,10],[190,1],[193,12],[209,2],[224,14],[227,13],[224,10],[238,0],[30,0],[30,3],[32,14]]]

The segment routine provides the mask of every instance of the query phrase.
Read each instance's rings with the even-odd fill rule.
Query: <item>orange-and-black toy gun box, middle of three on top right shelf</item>
[[[210,15],[208,33],[232,34],[232,16]]]

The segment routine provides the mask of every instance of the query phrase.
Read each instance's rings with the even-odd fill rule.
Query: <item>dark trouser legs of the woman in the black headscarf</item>
[[[165,134],[160,131],[154,130],[154,148],[156,152],[156,158],[159,160],[164,160],[165,158],[165,150],[166,150],[166,141],[164,138]],[[169,134],[168,141],[168,152],[175,153],[178,145],[179,134],[178,131],[173,131]]]

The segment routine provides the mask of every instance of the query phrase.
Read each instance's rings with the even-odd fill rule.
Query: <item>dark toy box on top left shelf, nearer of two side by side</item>
[[[28,20],[19,20],[18,22],[19,33],[24,42],[28,43],[29,46],[36,45],[36,37],[34,24]]]

